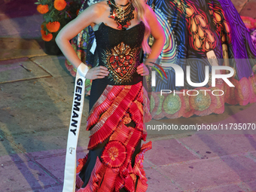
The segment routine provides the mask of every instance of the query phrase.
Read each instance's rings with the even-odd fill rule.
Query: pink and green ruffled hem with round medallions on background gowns
[[[197,87],[194,90],[189,90],[190,95],[199,93],[197,96],[188,96],[187,90],[175,90],[178,92],[175,95],[170,93],[161,96],[160,92],[149,93],[151,95],[152,119],[191,117],[194,114],[198,116],[212,113],[222,114],[225,103],[248,105],[248,103],[256,102],[256,75],[242,78],[240,81],[235,78],[229,78],[229,80],[235,87],[229,87],[222,82],[222,84],[216,84],[216,87]],[[216,96],[222,93],[224,95]]]

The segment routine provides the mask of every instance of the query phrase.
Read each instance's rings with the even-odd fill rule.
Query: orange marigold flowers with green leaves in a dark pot
[[[44,41],[53,40],[59,30],[78,16],[83,0],[38,0],[37,11],[44,14],[41,35]]]

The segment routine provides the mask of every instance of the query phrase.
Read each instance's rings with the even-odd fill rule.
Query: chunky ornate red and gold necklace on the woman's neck
[[[108,5],[110,7],[108,17],[117,22],[117,29],[126,30],[131,25],[130,20],[134,19],[133,4],[128,2],[126,5],[119,5],[120,7],[118,7],[114,0],[108,0]]]

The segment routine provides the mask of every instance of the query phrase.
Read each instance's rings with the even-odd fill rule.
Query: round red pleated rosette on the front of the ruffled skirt
[[[119,141],[108,142],[101,156],[103,163],[111,168],[120,167],[126,160],[126,157],[126,147]]]

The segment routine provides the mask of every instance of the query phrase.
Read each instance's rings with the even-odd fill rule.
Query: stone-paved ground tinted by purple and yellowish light
[[[63,56],[47,56],[33,0],[0,8],[0,191],[60,192],[74,79]],[[256,18],[256,1],[234,1]],[[34,6],[34,7],[33,7]],[[20,64],[32,72],[27,72]],[[224,114],[154,123],[256,123],[256,104],[226,105]],[[88,99],[82,124],[88,114]],[[148,191],[256,191],[255,131],[148,132]],[[78,158],[87,153],[81,130]]]

